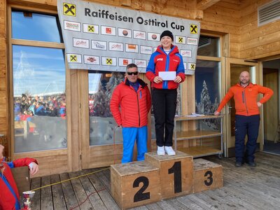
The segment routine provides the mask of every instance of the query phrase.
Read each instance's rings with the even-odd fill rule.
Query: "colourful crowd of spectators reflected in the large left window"
[[[31,116],[66,117],[65,94],[31,97],[22,94],[14,99],[15,120],[29,120]]]

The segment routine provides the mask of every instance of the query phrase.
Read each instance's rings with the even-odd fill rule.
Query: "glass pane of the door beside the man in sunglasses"
[[[110,111],[110,100],[113,90],[124,79],[125,73],[89,71],[90,146],[123,143],[122,130]]]

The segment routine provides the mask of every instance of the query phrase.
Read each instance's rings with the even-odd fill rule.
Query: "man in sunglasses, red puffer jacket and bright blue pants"
[[[113,91],[110,109],[118,126],[123,127],[122,163],[132,162],[134,141],[137,141],[137,160],[144,160],[147,152],[148,112],[151,94],[148,86],[138,78],[136,64],[128,64],[125,81]]]

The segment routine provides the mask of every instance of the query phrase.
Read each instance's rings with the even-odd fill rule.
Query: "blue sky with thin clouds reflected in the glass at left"
[[[57,27],[59,23],[55,16],[36,13],[32,13],[31,17],[27,16],[13,11],[13,38],[61,43]],[[27,92],[31,95],[64,92],[65,71],[62,49],[13,45],[15,97]],[[90,93],[98,90],[101,76],[101,73],[89,74]]]

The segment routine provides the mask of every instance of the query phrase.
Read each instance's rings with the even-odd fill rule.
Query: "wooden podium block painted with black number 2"
[[[160,200],[160,170],[146,161],[111,165],[111,193],[121,209]]]

